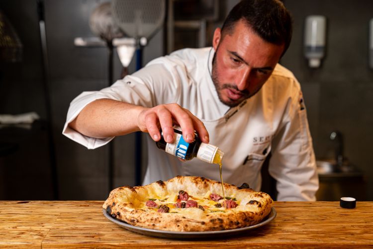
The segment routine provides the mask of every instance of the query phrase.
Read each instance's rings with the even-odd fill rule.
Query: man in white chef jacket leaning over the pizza
[[[182,162],[159,150],[159,128],[173,142],[173,123],[187,142],[196,130],[218,146],[227,183],[261,187],[269,171],[278,200],[315,200],[315,157],[299,83],[278,64],[291,40],[291,18],[279,0],[243,0],[213,36],[213,47],[184,49],[150,62],[110,88],[84,92],[69,109],[64,134],[96,148],[114,136],[148,132],[143,184],[176,175],[219,180],[217,166]]]

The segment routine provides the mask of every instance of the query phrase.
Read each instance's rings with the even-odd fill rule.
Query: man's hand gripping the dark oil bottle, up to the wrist
[[[149,132],[154,141],[161,139],[159,128],[162,128],[166,142],[174,142],[173,123],[177,123],[183,130],[186,142],[194,140],[194,130],[197,131],[202,142],[208,143],[208,132],[197,117],[178,104],[165,104],[153,108],[145,108],[137,116],[137,125],[143,132]]]

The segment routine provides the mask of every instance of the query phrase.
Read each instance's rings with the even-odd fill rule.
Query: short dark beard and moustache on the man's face
[[[250,98],[251,96],[253,96],[254,94],[256,94],[260,89],[258,89],[258,91],[256,91],[255,93],[251,94],[249,92],[249,90],[247,90],[247,89],[245,89],[243,91],[238,90],[238,87],[233,83],[221,83],[218,80],[216,53],[217,53],[217,49],[216,49],[216,52],[215,52],[214,57],[212,59],[212,73],[211,73],[212,82],[214,83],[214,86],[215,86],[215,89],[216,89],[216,92],[218,94],[220,102],[223,103],[224,105],[228,106],[228,107],[236,107],[240,103],[242,103],[244,100],[246,100],[246,99]],[[223,100],[222,91],[224,89],[233,89],[236,92],[240,92],[242,97],[237,99],[237,100],[232,100],[232,99],[229,99],[229,98],[228,98],[229,99],[228,101]]]

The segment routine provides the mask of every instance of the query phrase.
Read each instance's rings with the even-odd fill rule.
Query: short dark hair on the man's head
[[[241,0],[225,19],[221,28],[222,38],[225,34],[231,34],[240,20],[245,21],[265,41],[284,44],[282,55],[289,47],[292,19],[280,0]]]

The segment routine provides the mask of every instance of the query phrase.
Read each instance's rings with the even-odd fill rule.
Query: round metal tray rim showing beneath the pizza
[[[161,238],[168,238],[168,239],[207,239],[207,238],[216,239],[217,236],[221,237],[221,236],[238,235],[248,230],[256,229],[256,228],[262,227],[270,223],[273,219],[275,219],[277,215],[275,208],[272,207],[271,213],[266,218],[264,218],[264,220],[261,223],[258,223],[258,224],[255,224],[249,227],[237,228],[237,229],[231,229],[231,230],[222,230],[222,231],[174,232],[174,231],[163,231],[163,230],[155,230],[155,229],[132,226],[132,225],[129,225],[128,223],[125,223],[123,221],[120,221],[120,220],[117,220],[111,217],[104,209],[102,209],[102,213],[108,220],[114,222],[115,224],[131,232],[142,234],[142,235],[147,235],[147,236],[152,236],[152,237],[161,237]]]

